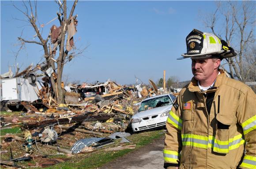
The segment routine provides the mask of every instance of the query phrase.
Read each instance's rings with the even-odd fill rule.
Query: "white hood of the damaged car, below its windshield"
[[[139,118],[149,116],[149,115],[162,114],[163,112],[170,110],[172,108],[172,106],[173,105],[166,105],[166,106],[162,106],[159,108],[152,108],[152,109],[145,110],[145,111],[139,111],[135,115],[132,115],[132,119],[139,119]]]

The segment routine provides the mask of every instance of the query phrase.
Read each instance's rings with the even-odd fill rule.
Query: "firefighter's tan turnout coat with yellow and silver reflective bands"
[[[256,95],[219,71],[214,88],[202,92],[193,78],[179,93],[166,122],[165,167],[256,169]],[[208,113],[205,94],[211,92]]]

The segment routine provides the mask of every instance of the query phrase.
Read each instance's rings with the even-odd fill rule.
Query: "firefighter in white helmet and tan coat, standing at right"
[[[166,122],[164,168],[256,169],[256,95],[219,69],[236,55],[224,40],[193,29],[186,37],[191,82]]]

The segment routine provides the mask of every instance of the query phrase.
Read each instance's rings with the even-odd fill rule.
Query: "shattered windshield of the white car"
[[[158,108],[158,107],[162,107],[170,104],[172,104],[172,101],[168,95],[162,96],[162,97],[155,97],[147,101],[141,102],[139,111],[145,111],[152,108]]]

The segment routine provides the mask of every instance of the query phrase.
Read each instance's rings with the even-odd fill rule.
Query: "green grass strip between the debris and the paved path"
[[[136,144],[136,149],[150,144],[155,139],[158,139],[164,135],[163,130],[150,131],[145,133],[133,134],[128,137],[132,141],[132,144]],[[121,157],[134,150],[120,150],[103,152],[101,150],[94,151],[93,153],[75,155],[67,162],[62,162],[53,166],[49,166],[45,169],[95,169],[107,162],[111,162],[114,159]]]

